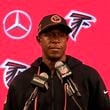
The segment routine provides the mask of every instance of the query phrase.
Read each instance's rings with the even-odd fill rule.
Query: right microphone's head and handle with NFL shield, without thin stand
[[[55,63],[55,68],[56,68],[57,76],[61,80],[61,83],[63,83],[63,81],[64,82],[66,81],[66,83],[68,84],[71,90],[72,95],[76,93],[77,96],[81,96],[75,82],[73,82],[73,80],[69,77],[72,74],[72,71],[70,70],[68,65],[64,64],[61,61],[57,61]]]

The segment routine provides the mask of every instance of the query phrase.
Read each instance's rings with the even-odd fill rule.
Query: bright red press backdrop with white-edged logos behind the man
[[[72,28],[75,18],[82,20],[74,33],[76,40],[70,35],[67,53],[96,68],[110,92],[109,5],[109,0],[1,0],[0,110],[10,81],[41,55],[35,38],[37,26],[43,16],[51,13],[65,17]]]

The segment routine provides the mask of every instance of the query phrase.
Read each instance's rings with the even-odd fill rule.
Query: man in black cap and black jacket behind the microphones
[[[42,57],[13,80],[4,110],[27,110],[26,102],[31,96],[28,110],[110,110],[108,92],[97,71],[65,54],[71,31],[64,18],[57,14],[41,20],[37,41],[42,48]],[[57,61],[64,64],[61,65],[64,74],[65,68],[72,74],[64,79],[62,74],[59,77],[55,67]],[[40,76],[42,72],[49,77],[48,89],[37,86],[38,94],[34,97],[32,93],[36,86],[32,81],[34,75]]]

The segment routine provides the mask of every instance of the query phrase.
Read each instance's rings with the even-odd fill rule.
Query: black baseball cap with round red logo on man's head
[[[63,31],[69,34],[72,29],[67,25],[66,20],[58,14],[50,14],[43,17],[38,26],[38,35],[52,27],[61,27]]]

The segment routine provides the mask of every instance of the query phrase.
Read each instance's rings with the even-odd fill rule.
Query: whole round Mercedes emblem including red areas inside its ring
[[[32,29],[30,16],[22,10],[13,10],[3,19],[5,34],[12,39],[26,37]]]

